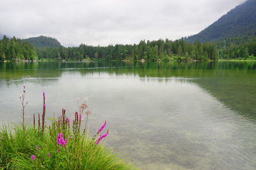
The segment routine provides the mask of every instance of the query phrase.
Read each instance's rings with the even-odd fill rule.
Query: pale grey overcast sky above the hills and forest
[[[64,46],[133,44],[196,34],[245,0],[0,0],[0,33]]]

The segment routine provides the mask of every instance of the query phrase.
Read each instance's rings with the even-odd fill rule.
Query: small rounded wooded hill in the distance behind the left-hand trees
[[[29,41],[29,43],[33,44],[35,46],[35,48],[61,46],[60,42],[57,39],[51,38],[51,37],[46,37],[46,36],[27,38],[27,39],[23,39],[23,41]]]

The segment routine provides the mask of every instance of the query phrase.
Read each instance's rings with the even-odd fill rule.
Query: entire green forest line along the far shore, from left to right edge
[[[227,38],[222,41],[195,41],[191,44],[181,38],[176,41],[159,39],[140,41],[137,45],[35,48],[19,38],[0,40],[0,60],[216,60],[256,59],[256,42],[250,36]]]

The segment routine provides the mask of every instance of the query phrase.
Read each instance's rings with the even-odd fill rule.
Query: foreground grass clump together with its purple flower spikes
[[[44,95],[45,99],[45,95]],[[79,101],[77,101],[79,104]],[[65,116],[65,110],[58,118],[51,118],[46,126],[45,100],[42,122],[38,115],[38,125],[4,125],[0,131],[0,168],[1,169],[134,169],[116,153],[100,145],[100,140],[108,132],[100,135],[106,122],[93,138],[86,126],[81,131],[83,112],[88,115],[86,101],[79,104],[79,113],[74,114],[73,124]]]

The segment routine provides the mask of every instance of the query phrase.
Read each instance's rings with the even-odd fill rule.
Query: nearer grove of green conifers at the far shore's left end
[[[0,61],[16,59],[37,60],[35,47],[19,38],[9,39],[3,36],[3,39],[0,39]]]

